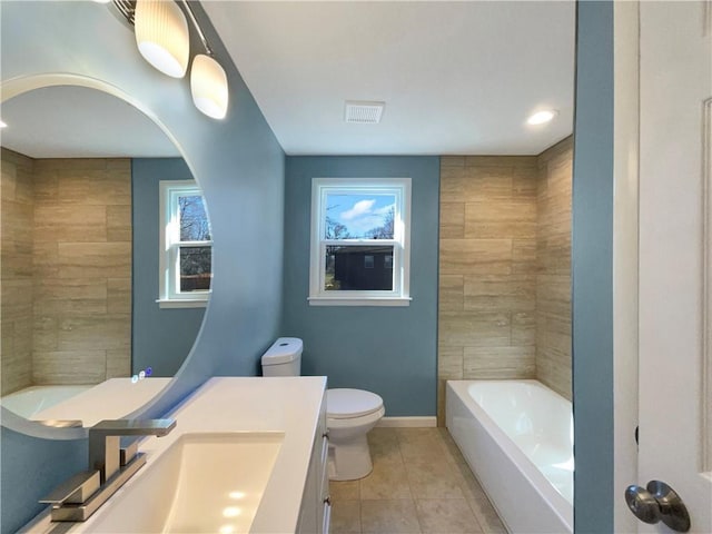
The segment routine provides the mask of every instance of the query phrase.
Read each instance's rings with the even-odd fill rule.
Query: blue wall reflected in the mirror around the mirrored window
[[[131,161],[134,279],[131,368],[151,367],[154,376],[174,376],[190,353],[205,308],[160,308],[158,261],[160,180],[192,180],[181,158]]]

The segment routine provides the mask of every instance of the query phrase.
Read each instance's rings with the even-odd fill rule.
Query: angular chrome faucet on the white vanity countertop
[[[40,501],[52,521],[86,521],[146,464],[137,442],[120,448],[121,436],[165,436],[175,419],[106,419],[89,428],[89,471],[78,473]]]

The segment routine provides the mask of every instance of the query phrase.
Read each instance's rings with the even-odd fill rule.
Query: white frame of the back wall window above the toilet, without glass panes
[[[326,198],[332,194],[395,195],[393,239],[325,239]],[[325,290],[324,258],[332,245],[393,246],[393,290]],[[310,306],[408,306],[411,304],[411,178],[313,178]]]

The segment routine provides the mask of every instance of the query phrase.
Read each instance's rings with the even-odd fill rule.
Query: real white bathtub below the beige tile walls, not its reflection
[[[568,400],[536,380],[449,380],[446,419],[510,532],[573,532]]]

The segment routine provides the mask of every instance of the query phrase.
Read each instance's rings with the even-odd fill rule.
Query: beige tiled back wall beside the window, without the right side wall
[[[535,376],[536,157],[443,157],[438,419],[458,378]]]

